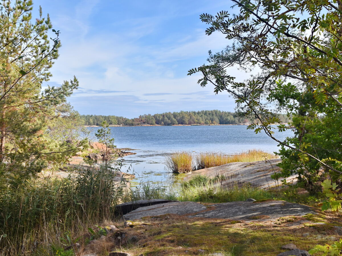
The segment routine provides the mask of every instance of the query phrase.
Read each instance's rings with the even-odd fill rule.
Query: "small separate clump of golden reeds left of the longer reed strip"
[[[192,154],[177,152],[166,157],[166,166],[174,173],[185,173],[193,170]]]

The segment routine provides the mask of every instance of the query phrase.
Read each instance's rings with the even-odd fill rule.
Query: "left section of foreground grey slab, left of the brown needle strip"
[[[158,216],[167,213],[188,214],[206,210],[207,207],[195,202],[169,202],[140,207],[130,213],[123,215],[126,220],[139,219],[146,216]]]

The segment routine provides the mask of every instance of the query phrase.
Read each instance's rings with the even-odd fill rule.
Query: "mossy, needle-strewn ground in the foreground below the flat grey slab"
[[[257,220],[265,216],[253,217]],[[316,219],[317,216],[306,217]],[[308,251],[314,245],[324,245],[331,239],[332,232],[329,231],[332,228],[331,223],[287,226],[288,223],[298,220],[305,220],[305,218],[282,217],[277,219],[277,225],[274,225],[275,222],[272,220],[244,223],[228,219],[169,215],[167,220],[163,218],[150,220],[153,225],[126,229],[131,234],[143,232],[143,235],[139,244],[123,246],[123,249],[132,255],[145,256],[208,255],[215,252],[226,252],[224,254],[227,256],[273,256],[283,252],[281,246],[287,243],[294,243],[298,248]],[[311,235],[303,237],[302,234],[307,232]],[[334,237],[339,238],[336,235]],[[205,252],[201,253],[199,249]]]

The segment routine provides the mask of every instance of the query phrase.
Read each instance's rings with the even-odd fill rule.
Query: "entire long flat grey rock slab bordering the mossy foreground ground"
[[[140,207],[123,215],[125,220],[139,219],[146,216],[162,214],[187,214],[188,217],[221,218],[237,221],[268,221],[285,216],[303,216],[316,214],[310,207],[286,201],[267,200],[263,202],[228,202],[205,205],[196,202],[170,202]]]

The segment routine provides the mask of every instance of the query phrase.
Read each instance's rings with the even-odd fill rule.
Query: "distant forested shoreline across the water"
[[[220,110],[202,110],[202,111],[180,111],[165,112],[162,114],[140,115],[136,118],[126,118],[114,115],[81,115],[85,125],[101,125],[106,121],[110,125],[139,126],[149,125],[228,125],[240,123],[257,123],[254,118],[240,117],[234,112]],[[288,123],[289,118],[286,114],[279,114],[279,119],[283,123]]]

